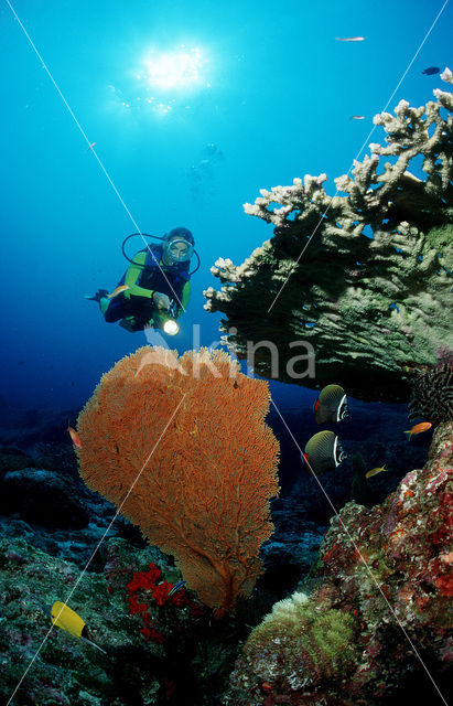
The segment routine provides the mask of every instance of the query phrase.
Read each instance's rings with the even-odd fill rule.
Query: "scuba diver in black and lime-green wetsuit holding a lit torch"
[[[109,295],[106,289],[99,289],[86,298],[99,302],[107,322],[120,321],[127,331],[154,327],[174,335],[179,331],[176,319],[190,299],[191,275],[199,267],[194,237],[184,227],[173,228],[163,238],[147,236],[162,240],[162,244],[147,246],[130,259],[125,245],[137,235],[147,236],[134,233],[122,244],[122,253],[130,265],[115,291]],[[194,253],[198,265],[191,272],[190,261]]]

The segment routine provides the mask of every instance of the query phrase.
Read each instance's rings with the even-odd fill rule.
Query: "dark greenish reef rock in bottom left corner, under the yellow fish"
[[[193,596],[185,605],[177,593],[163,605],[149,596],[150,632],[152,627],[164,640],[148,639],[140,632],[140,613],[130,614],[128,584],[150,563],[159,567],[160,586],[181,575],[155,547],[137,549],[112,538],[100,554],[104,570],[88,570],[78,582],[80,569],[73,563],[23,539],[0,539],[0,703],[9,700],[40,650],[14,706],[211,706],[228,680],[245,629],[236,634],[218,621],[214,630],[206,613],[194,616]],[[47,634],[54,600],[67,600],[107,654],[64,630]]]

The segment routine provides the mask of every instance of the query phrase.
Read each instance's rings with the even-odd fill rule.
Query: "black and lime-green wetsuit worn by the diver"
[[[112,323],[120,319],[126,319],[127,328],[130,331],[142,330],[150,322],[155,311],[152,302],[154,292],[169,297],[170,302],[176,307],[176,318],[186,308],[191,296],[188,263],[185,261],[169,267],[162,263],[162,246],[153,246],[150,250],[152,255],[148,249],[137,253],[128,270],[118,282],[118,286],[127,285],[129,287],[127,291],[112,299],[107,297],[100,299],[100,310],[107,322]],[[160,267],[165,272],[166,279],[157,263],[160,264]],[[175,293],[182,306],[175,299]]]

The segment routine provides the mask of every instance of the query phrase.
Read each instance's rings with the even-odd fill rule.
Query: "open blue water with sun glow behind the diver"
[[[115,288],[127,265],[122,239],[137,226],[158,236],[180,225],[193,232],[202,266],[171,345],[192,347],[193,324],[202,344],[217,341],[220,317],[203,309],[203,290],[218,286],[211,266],[217,257],[239,264],[272,236],[242,204],[306,173],[326,172],[335,192],[333,179],[363,146],[362,157],[384,140],[381,128],[369,136],[373,116],[443,2],[12,4],[24,29],[2,0],[0,394],[3,404],[58,408],[83,405],[103,372],[147,343],[84,300]],[[423,105],[442,86],[421,72],[452,66],[452,21],[450,4],[389,111],[401,98]],[[335,40],[355,35],[365,41]],[[147,60],[155,66],[183,51],[193,58],[195,49],[195,81],[147,82]]]

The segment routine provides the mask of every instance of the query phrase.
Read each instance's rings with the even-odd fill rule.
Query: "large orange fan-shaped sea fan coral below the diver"
[[[175,556],[217,617],[262,571],[279,491],[268,384],[238,371],[220,351],[145,346],[103,376],[77,424],[87,485]]]

